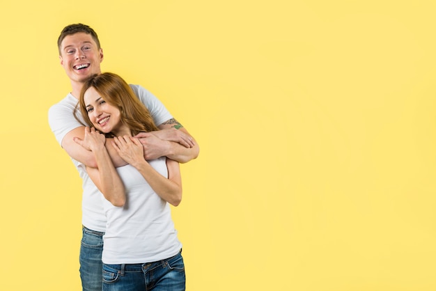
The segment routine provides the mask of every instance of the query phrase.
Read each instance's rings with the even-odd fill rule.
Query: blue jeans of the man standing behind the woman
[[[83,291],[102,291],[103,235],[83,227],[80,246],[80,278]]]

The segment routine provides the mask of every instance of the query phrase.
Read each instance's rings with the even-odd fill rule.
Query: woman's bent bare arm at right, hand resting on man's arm
[[[141,142],[131,136],[118,136],[113,141],[114,148],[127,163],[137,168],[150,187],[162,199],[174,206],[182,200],[182,178],[178,162],[166,159],[168,178],[158,173],[143,158]]]

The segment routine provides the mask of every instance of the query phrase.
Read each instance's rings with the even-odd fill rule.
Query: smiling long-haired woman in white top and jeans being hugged
[[[178,162],[143,158],[133,136],[158,130],[146,107],[118,75],[98,74],[80,94],[86,148],[98,168],[86,168],[100,189],[107,216],[104,234],[103,290],[185,290],[182,245],[171,219],[171,205],[182,199]],[[114,168],[105,136],[128,164]]]

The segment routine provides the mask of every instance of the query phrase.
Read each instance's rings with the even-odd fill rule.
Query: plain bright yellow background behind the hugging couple
[[[47,110],[56,40],[201,146],[173,219],[187,290],[436,290],[436,4],[2,1],[0,290],[79,290],[81,182]]]

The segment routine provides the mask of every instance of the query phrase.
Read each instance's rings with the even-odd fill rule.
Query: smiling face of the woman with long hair
[[[86,90],[84,102],[88,117],[95,129],[104,133],[117,134],[121,127],[121,113],[117,107],[104,101],[94,87]]]

